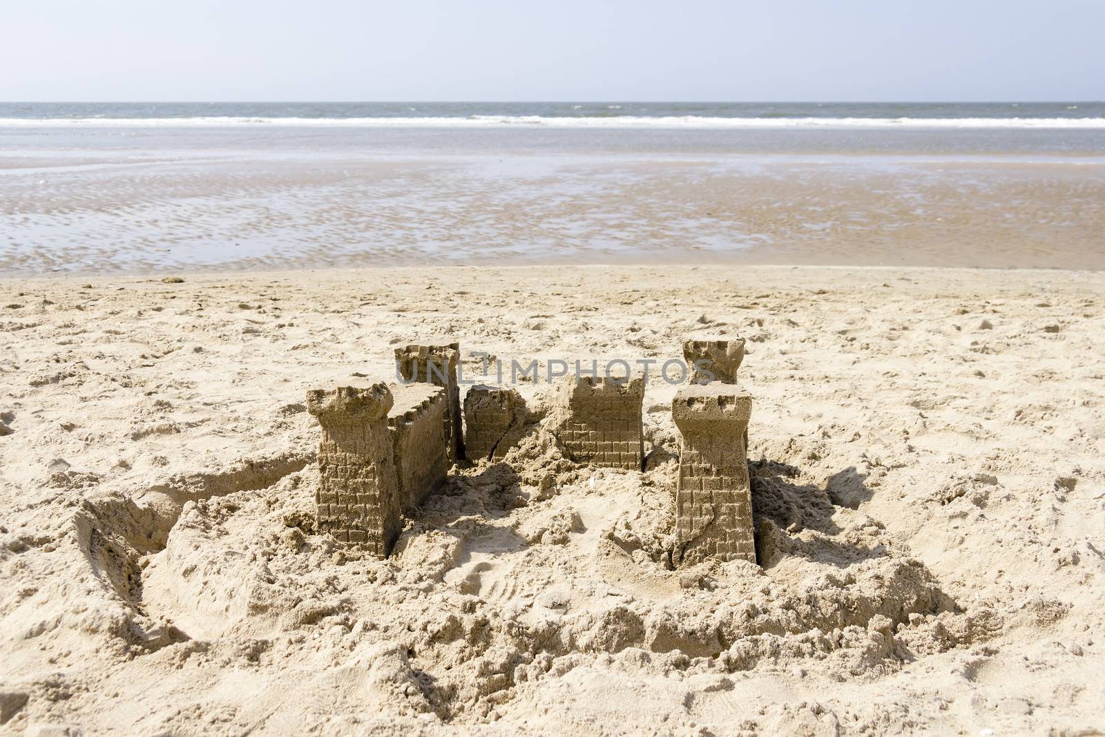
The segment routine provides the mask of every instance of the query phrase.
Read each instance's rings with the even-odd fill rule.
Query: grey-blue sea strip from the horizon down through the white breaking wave
[[[38,102],[0,127],[349,126],[611,128],[1105,128],[1105,102]]]

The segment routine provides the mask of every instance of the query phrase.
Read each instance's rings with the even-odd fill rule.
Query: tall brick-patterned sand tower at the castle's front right
[[[683,436],[675,492],[675,562],[756,562],[748,480],[751,397],[737,385],[692,385],[672,402]]]

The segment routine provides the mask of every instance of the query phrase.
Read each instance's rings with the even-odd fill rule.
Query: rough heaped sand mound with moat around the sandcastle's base
[[[218,651],[282,678],[305,656],[356,674],[350,703],[368,689],[381,714],[463,723],[598,654],[659,677],[808,667],[843,681],[1001,629],[944,594],[876,520],[779,463],[755,466],[765,570],[673,569],[672,462],[579,468],[538,424],[505,461],[456,473],[385,561],[316,534],[317,467],[282,473],[295,465],[209,475],[179,507],[164,486],[146,504],[85,502],[50,543],[80,554],[75,580],[43,583],[51,599],[78,586],[95,603],[32,630],[173,670]],[[270,480],[256,466],[276,467],[276,483],[252,488]]]

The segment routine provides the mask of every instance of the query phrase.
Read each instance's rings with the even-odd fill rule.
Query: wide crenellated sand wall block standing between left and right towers
[[[644,379],[570,376],[561,388],[556,436],[578,463],[641,470]]]

